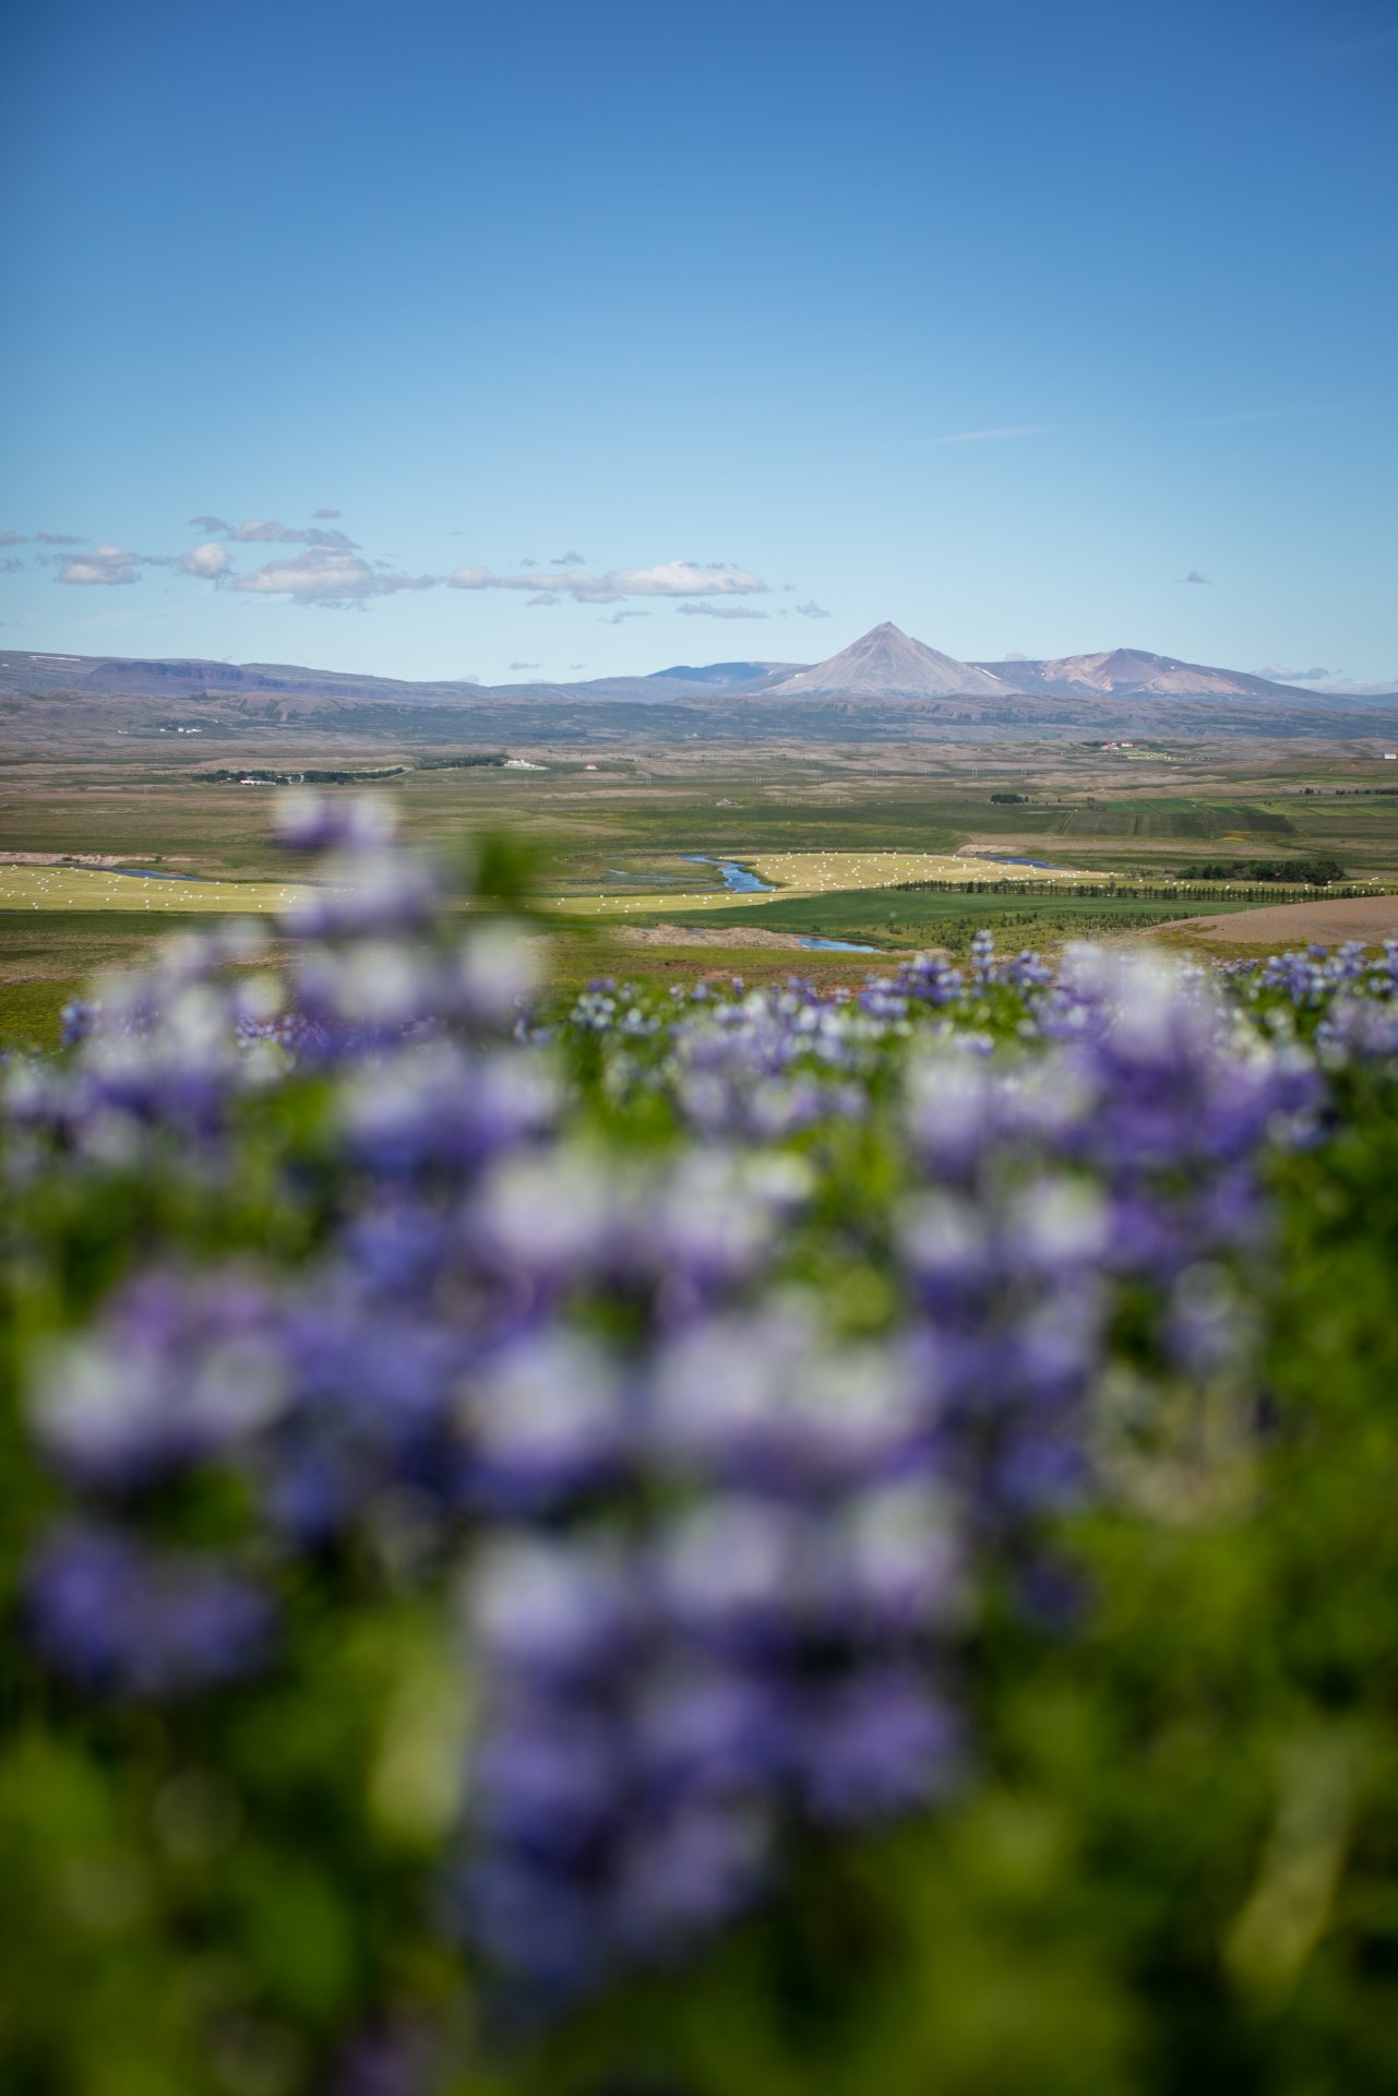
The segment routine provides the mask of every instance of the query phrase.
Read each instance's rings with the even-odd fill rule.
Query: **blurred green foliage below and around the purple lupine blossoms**
[[[528,893],[528,861],[495,849],[478,882]],[[979,922],[962,912],[943,918],[949,941]],[[975,1014],[991,1038],[1014,1017],[991,996]],[[608,1088],[595,1040],[574,1035],[570,1056],[589,1134],[675,1140],[664,1102]],[[855,1335],[889,1316],[889,1075],[866,1123],[807,1144],[822,1191],[796,1270]],[[1323,1140],[1274,1167],[1260,1400],[1184,1400],[1149,1446],[1123,1434],[1107,1450],[1121,1492],[1061,1536],[1082,1589],[1071,1635],[987,1597],[964,1796],[813,1840],[782,1899],[696,1966],[562,2027],[495,2031],[467,1960],[442,1951],[434,1859],[463,1803],[472,1683],[451,1616],[405,1595],[390,1562],[314,1564],[281,1666],[176,1712],[78,1706],[10,1637],[6,2096],[306,2096],[333,2088],[335,2035],[386,2008],[446,2033],[413,2083],[432,2096],[1385,2096],[1398,1094],[1383,1071],[1335,1082]],[[34,1358],[147,1247],[293,1272],[342,1199],[323,1107],[316,1079],[254,1100],[214,1188],[159,1170],[13,1188],[10,1626],[48,1509],[21,1429]],[[214,1536],[239,1507],[210,1497],[193,1518]]]

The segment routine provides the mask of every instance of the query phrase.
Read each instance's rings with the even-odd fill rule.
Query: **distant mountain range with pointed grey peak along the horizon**
[[[61,702],[61,704],[54,704]],[[184,708],[184,713],[180,713]],[[0,723],[210,734],[329,729],[413,740],[627,734],[1394,734],[1390,694],[1323,694],[1140,648],[1054,660],[958,662],[884,623],[824,662],[677,662],[583,683],[413,683],[287,662],[0,652]],[[469,715],[446,723],[442,713]],[[176,715],[180,715],[176,719]],[[187,715],[187,717],[184,717]],[[604,721],[606,715],[606,721]],[[671,725],[667,717],[673,715]]]

